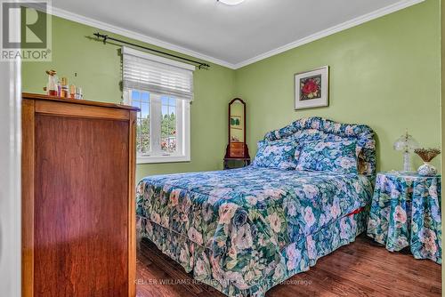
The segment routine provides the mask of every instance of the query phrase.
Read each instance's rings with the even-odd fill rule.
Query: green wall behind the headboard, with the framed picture
[[[247,101],[247,141],[255,156],[265,132],[303,116],[370,125],[379,170],[401,169],[392,143],[406,128],[425,147],[441,145],[440,1],[426,0],[236,71]],[[330,66],[328,108],[294,110],[294,74]],[[415,168],[422,164],[413,157]],[[440,167],[440,157],[433,165]]]

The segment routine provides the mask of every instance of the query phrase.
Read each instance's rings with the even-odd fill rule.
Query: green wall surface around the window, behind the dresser
[[[23,92],[43,93],[47,82],[44,71],[56,69],[59,77],[67,76],[69,84],[83,88],[85,99],[119,103],[122,98],[120,46],[102,44],[88,38],[97,30],[53,17],[53,61],[23,63]],[[143,44],[123,36],[118,37]],[[158,48],[150,44],[143,45]],[[234,94],[234,70],[211,64],[208,70],[197,69],[194,80],[195,100],[190,108],[191,162],[137,165],[138,181],[149,174],[223,168],[227,144],[227,104]]]

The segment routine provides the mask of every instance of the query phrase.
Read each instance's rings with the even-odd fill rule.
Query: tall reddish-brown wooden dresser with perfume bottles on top
[[[23,93],[22,296],[135,296],[136,112]]]

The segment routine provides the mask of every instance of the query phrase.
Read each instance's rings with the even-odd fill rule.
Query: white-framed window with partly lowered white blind
[[[123,48],[124,101],[137,116],[137,163],[190,161],[193,66]]]

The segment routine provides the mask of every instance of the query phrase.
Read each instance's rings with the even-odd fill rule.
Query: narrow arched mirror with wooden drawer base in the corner
[[[246,144],[246,103],[239,98],[229,103],[229,144],[224,157],[224,169],[229,169],[231,161],[241,161],[243,166],[250,164]]]

